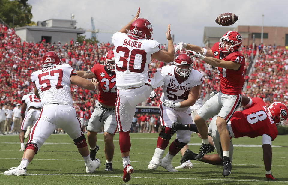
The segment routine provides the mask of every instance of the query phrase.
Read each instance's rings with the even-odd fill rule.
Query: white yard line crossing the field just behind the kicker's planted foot
[[[19,160],[19,158],[0,158],[0,159],[15,159],[15,160]],[[54,161],[83,161],[83,160],[79,160],[79,159],[33,159],[33,160],[54,160]],[[106,160],[101,160],[101,161],[106,161]],[[123,162],[121,161],[114,161],[113,162]],[[150,163],[150,161],[130,161],[131,163]],[[172,162],[172,163],[176,163],[176,164],[181,164],[181,163],[177,163],[177,162]],[[202,163],[202,162],[194,162],[193,164],[204,164],[207,165],[208,163]],[[252,166],[264,166],[264,164],[234,164],[233,165],[239,165],[239,166],[246,166],[246,165],[252,165]],[[287,165],[273,165],[273,166],[287,166]]]

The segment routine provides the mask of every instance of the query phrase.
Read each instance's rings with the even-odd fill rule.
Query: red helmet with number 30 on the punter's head
[[[152,24],[147,19],[138,18],[130,25],[129,35],[133,38],[151,39],[152,34]]]

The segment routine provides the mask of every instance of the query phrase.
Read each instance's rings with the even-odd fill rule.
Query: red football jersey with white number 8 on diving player
[[[243,111],[234,112],[230,120],[235,138],[243,136],[253,138],[267,134],[273,141],[278,135],[278,130],[268,114],[264,101],[261,98],[251,99],[252,105]]]

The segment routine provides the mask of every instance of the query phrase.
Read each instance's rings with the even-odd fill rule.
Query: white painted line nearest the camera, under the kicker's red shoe
[[[4,173],[1,173],[4,174]],[[122,176],[116,176],[116,175],[75,175],[75,174],[34,174],[30,173],[27,175],[56,175],[56,176],[84,176],[84,177],[117,177],[122,178]],[[204,181],[239,181],[239,182],[267,182],[262,180],[241,180],[241,179],[202,179],[202,178],[167,178],[167,177],[137,177],[132,176],[131,178],[145,178],[145,179],[177,179],[177,180],[204,180]],[[271,181],[268,181],[271,182]],[[282,183],[288,183],[288,181],[275,181],[275,182],[282,182]]]

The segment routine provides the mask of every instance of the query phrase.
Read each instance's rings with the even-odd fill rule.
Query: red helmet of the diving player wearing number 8
[[[286,124],[288,118],[288,108],[284,103],[273,102],[268,107],[268,113],[275,121],[276,126]]]

